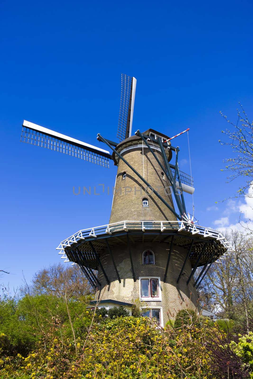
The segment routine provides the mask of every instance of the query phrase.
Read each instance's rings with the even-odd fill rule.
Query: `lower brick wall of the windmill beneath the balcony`
[[[133,280],[127,246],[111,247],[119,276],[121,278],[121,283],[118,282],[110,256],[107,253],[104,253],[101,256],[101,262],[110,280],[110,285],[107,285],[104,275],[99,271],[99,281],[101,282],[101,290],[99,291],[100,298],[102,293],[104,293],[102,296],[103,300],[112,299],[132,303],[135,299],[140,299],[139,277],[160,277],[162,301],[147,301],[143,302],[143,304],[148,307],[162,307],[164,325],[168,321],[168,310],[170,310],[170,312],[175,316],[179,309],[187,307],[187,304],[190,302],[190,298],[191,306],[195,307],[197,303],[197,293],[193,287],[193,278],[188,285],[186,284],[192,271],[189,260],[185,265],[183,276],[181,277],[179,283],[176,283],[184,263],[185,256],[187,255],[187,250],[182,247],[174,247],[168,267],[167,279],[165,283],[163,282],[169,247],[170,244],[167,243],[154,243],[152,246],[150,244],[142,243],[131,245],[135,277],[137,279],[136,282]],[[147,249],[154,252],[154,265],[143,265],[142,263],[143,251]]]

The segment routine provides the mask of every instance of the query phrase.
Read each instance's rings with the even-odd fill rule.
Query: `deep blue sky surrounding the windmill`
[[[112,191],[74,196],[73,186],[112,186],[105,169],[20,143],[23,119],[106,148],[116,139],[120,74],[137,78],[133,130],[168,135],[190,128],[195,216],[236,224],[218,139],[240,101],[252,118],[252,2],[81,2],[2,0],[1,13],[1,280],[19,285],[60,257],[55,247],[79,229],[108,222]],[[189,172],[187,135],[181,170]],[[191,196],[186,195],[191,211]],[[231,209],[234,207],[234,211]]]

